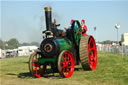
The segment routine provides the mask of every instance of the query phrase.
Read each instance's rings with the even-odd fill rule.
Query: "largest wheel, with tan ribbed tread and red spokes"
[[[92,36],[82,36],[80,40],[80,61],[84,70],[94,70],[97,66],[96,43]]]

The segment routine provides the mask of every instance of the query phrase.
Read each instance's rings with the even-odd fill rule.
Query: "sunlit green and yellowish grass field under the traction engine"
[[[0,85],[128,85],[128,56],[98,52],[95,71],[76,66],[71,78],[58,73],[33,78],[28,70],[29,57],[0,59]]]

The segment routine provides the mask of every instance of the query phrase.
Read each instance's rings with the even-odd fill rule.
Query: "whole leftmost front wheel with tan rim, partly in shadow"
[[[41,58],[41,55],[35,52],[30,56],[29,59],[29,71],[34,77],[37,78],[43,76],[46,72],[46,65],[41,65],[38,63],[38,58]]]

